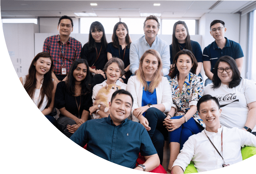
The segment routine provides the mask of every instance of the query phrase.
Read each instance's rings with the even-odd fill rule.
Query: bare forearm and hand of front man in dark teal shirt
[[[146,168],[145,172],[150,172],[160,165],[160,160],[157,154],[144,157],[146,159],[146,162],[143,164]],[[143,168],[137,166],[135,170],[143,171]]]

